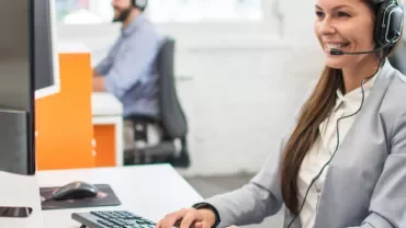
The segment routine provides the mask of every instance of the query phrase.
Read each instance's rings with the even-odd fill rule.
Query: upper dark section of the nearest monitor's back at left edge
[[[0,106],[27,112],[33,102],[30,2],[0,1]]]

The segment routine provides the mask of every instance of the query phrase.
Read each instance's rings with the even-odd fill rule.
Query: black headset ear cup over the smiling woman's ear
[[[379,47],[393,46],[401,38],[403,8],[397,0],[385,0],[376,12],[374,39]]]

